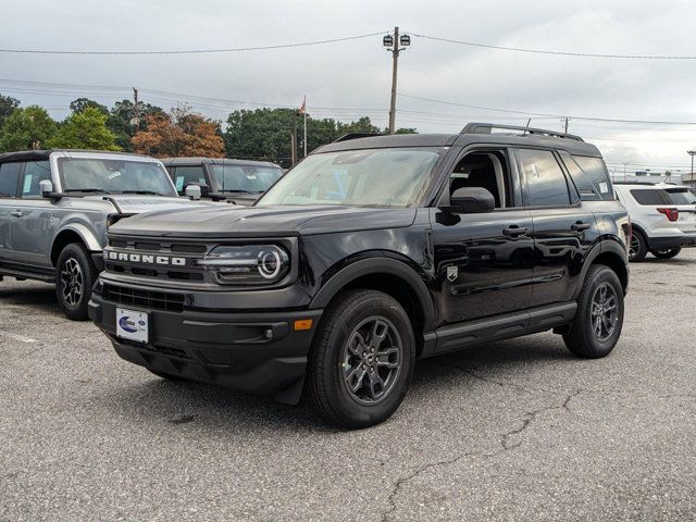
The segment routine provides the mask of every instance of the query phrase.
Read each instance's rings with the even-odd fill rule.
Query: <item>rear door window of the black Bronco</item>
[[[550,150],[517,149],[526,181],[526,207],[569,207],[566,174]]]

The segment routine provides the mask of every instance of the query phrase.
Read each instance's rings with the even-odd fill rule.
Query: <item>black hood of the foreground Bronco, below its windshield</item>
[[[298,236],[398,228],[415,220],[415,209],[356,207],[237,207],[150,212],[120,221],[114,234],[174,237]]]

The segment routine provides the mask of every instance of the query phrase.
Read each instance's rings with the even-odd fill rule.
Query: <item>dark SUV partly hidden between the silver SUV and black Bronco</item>
[[[281,166],[269,161],[165,158],[162,162],[181,195],[189,185],[199,185],[206,199],[243,206],[252,204],[283,175]]]

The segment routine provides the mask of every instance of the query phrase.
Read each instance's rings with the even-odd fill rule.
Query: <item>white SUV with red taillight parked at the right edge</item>
[[[696,245],[696,197],[687,187],[614,182],[614,190],[633,226],[631,261],[642,261],[648,252],[670,259],[682,247]]]

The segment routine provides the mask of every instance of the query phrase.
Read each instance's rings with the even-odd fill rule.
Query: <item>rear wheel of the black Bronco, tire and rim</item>
[[[599,306],[597,300],[601,301],[602,288],[607,299],[601,304],[601,308],[597,310],[596,307]],[[610,296],[613,297],[613,300],[610,300]],[[595,303],[595,308],[593,303]],[[613,314],[609,311],[612,303],[616,307]],[[607,312],[601,313],[605,308]],[[599,313],[593,315],[593,310],[597,310]],[[575,320],[563,334],[566,346],[577,357],[598,359],[608,356],[621,335],[623,311],[623,287],[617,273],[604,264],[592,265],[587,271],[577,297]],[[598,325],[595,320],[597,316],[606,320],[599,319],[600,324]],[[599,326],[599,334],[597,333],[597,325]]]

